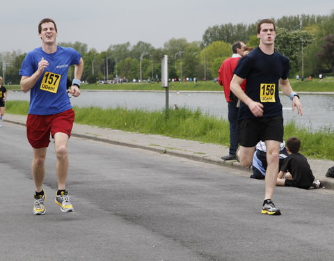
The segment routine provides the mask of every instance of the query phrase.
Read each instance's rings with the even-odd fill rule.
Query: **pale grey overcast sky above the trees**
[[[45,17],[55,20],[58,42],[79,41],[102,52],[124,42],[144,41],[159,48],[171,38],[202,40],[205,30],[216,24],[329,15],[334,4],[328,0],[3,0],[0,8],[0,52],[39,47],[38,22]]]

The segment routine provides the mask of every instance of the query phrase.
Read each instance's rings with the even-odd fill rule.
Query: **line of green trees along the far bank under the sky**
[[[290,59],[290,76],[334,72],[334,11],[330,15],[296,15],[273,19],[276,22],[276,50]],[[59,42],[73,47],[84,58],[82,80],[160,78],[161,56],[168,55],[169,77],[183,79],[214,79],[221,62],[232,55],[232,44],[242,40],[250,47],[257,47],[256,24],[221,24],[209,27],[202,41],[188,42],[185,38],[172,38],[163,47],[155,48],[148,42],[136,45],[125,42],[110,45],[103,52],[82,42]],[[19,84],[18,72],[26,56],[19,51],[0,53],[0,70],[6,84]],[[70,68],[69,77],[73,77]]]

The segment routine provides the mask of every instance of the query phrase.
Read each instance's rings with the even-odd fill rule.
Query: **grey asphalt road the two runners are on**
[[[333,191],[276,188],[282,216],[260,214],[264,182],[237,169],[71,138],[67,189],[33,215],[25,127],[0,128],[0,260],[333,260]]]

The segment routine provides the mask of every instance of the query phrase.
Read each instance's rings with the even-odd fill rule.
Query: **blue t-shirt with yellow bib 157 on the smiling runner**
[[[81,55],[71,47],[57,46],[53,54],[47,54],[39,47],[26,54],[19,75],[31,77],[42,58],[49,62],[49,66],[30,90],[29,113],[51,115],[71,109],[66,92],[67,72],[71,65],[79,64]]]

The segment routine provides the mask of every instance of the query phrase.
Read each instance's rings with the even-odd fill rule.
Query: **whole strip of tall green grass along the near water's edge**
[[[29,102],[8,101],[6,111],[13,114],[26,115]],[[128,132],[143,134],[160,134],[179,139],[201,141],[229,146],[230,134],[228,122],[200,110],[191,111],[186,108],[168,111],[142,111],[138,109],[102,109],[100,107],[74,107],[75,122]],[[297,127],[292,122],[285,125],[285,140],[290,136],[301,139],[301,153],[314,159],[334,160],[334,132],[320,129],[311,132],[305,127]]]

